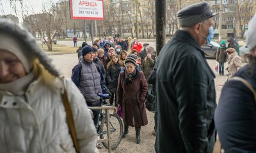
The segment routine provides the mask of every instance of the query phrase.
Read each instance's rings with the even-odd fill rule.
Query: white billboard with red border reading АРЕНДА
[[[104,20],[103,0],[70,0],[71,19]]]

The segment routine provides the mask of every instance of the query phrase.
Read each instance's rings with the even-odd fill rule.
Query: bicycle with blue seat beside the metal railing
[[[98,94],[100,96],[100,103],[102,106],[102,102],[104,99],[108,99],[109,97],[106,94]],[[104,106],[112,106],[112,105],[104,105]],[[107,129],[107,116],[106,112],[102,112],[100,110],[100,117],[98,122],[97,133],[100,139],[108,138],[108,129]],[[122,135],[124,132],[124,125],[122,119],[115,112],[109,113],[109,125],[110,125],[110,135],[111,135],[111,149],[116,149],[122,140]],[[108,142],[102,142],[102,145],[108,149]]]

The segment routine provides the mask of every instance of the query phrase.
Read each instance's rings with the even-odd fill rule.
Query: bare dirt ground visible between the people
[[[70,78],[71,69],[77,63],[77,54],[65,54],[65,55],[51,55],[53,59],[53,63],[56,65],[58,69],[61,69],[61,72],[65,77]],[[217,103],[220,98],[220,93],[222,89],[222,85],[227,81],[227,76],[220,76],[218,72],[215,72],[215,63],[214,59],[207,59],[207,62],[212,68],[212,71],[216,74],[215,84],[216,84],[216,95],[217,95]],[[227,68],[227,63],[225,64],[225,68]],[[225,71],[225,73],[227,73]],[[148,125],[141,127],[141,143],[136,144],[135,142],[135,129],[129,128],[128,135],[122,139],[120,145],[113,150],[113,152],[122,152],[122,153],[133,153],[133,152],[155,152],[154,143],[156,136],[152,135],[152,131],[154,129],[154,113],[147,111],[148,117]],[[108,152],[106,149],[99,149],[100,152]]]

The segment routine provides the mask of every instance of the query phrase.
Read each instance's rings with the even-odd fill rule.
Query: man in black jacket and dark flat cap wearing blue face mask
[[[214,15],[206,2],[178,11],[181,28],[158,56],[156,152],[212,152],[215,75],[201,46],[214,36]]]

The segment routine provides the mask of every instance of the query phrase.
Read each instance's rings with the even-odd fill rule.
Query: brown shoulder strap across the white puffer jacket
[[[76,152],[79,153],[80,151],[79,151],[79,145],[78,145],[77,138],[76,138],[75,123],[74,123],[74,119],[73,119],[73,115],[72,115],[72,110],[71,110],[70,104],[68,102],[68,96],[67,96],[66,89],[64,89],[64,93],[61,96],[62,96],[63,104],[64,104],[64,107],[65,107],[65,110],[67,113],[67,124],[68,124],[68,128],[69,128],[69,132],[72,137]]]

